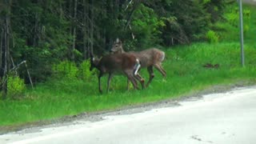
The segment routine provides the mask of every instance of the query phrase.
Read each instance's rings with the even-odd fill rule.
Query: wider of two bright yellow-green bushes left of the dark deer
[[[63,61],[53,66],[54,78],[73,79],[78,76],[78,67],[74,62]]]

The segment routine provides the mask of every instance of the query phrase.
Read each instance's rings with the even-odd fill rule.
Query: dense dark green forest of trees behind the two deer
[[[83,63],[88,67],[89,53],[107,54],[115,38],[122,39],[126,50],[206,41],[210,26],[222,19],[222,11],[229,2],[1,0],[3,98],[8,81],[19,86],[22,79],[33,86],[49,78],[66,76],[65,66]]]

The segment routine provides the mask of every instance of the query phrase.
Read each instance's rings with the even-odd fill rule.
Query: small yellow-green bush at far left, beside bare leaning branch
[[[18,76],[10,75],[7,80],[7,97],[20,98],[26,89],[24,80]]]

